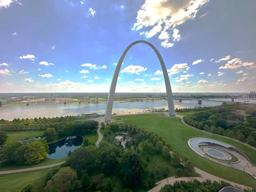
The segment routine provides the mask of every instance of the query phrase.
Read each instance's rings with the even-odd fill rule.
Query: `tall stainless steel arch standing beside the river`
[[[135,44],[138,43],[144,43],[147,44],[149,46],[151,46],[151,48],[155,51],[156,55],[158,56],[158,59],[160,61],[161,67],[162,67],[162,71],[164,74],[164,82],[165,82],[165,87],[166,87],[166,93],[167,93],[167,101],[168,101],[168,108],[169,108],[169,116],[175,116],[175,111],[174,111],[174,102],[173,102],[173,97],[172,97],[172,88],[171,88],[171,84],[170,84],[170,80],[169,80],[169,76],[164,64],[164,60],[161,57],[159,51],[156,49],[156,47],[154,45],[152,45],[151,43],[149,43],[148,41],[134,41],[133,43],[131,43],[126,49],[125,51],[123,51],[122,56],[120,57],[118,64],[115,68],[115,73],[113,75],[113,79],[111,82],[111,86],[110,86],[110,90],[109,90],[109,94],[108,94],[108,102],[107,102],[107,108],[105,111],[105,122],[110,122],[111,120],[111,114],[112,114],[112,108],[113,108],[113,101],[114,101],[114,94],[115,94],[115,87],[116,87],[116,82],[118,80],[118,74],[120,72],[120,68],[121,65],[123,63],[123,59],[126,55],[126,53],[128,52],[128,50]]]

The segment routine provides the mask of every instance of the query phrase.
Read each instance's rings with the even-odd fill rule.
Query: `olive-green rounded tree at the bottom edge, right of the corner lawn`
[[[72,189],[77,173],[71,167],[62,167],[46,184],[46,191],[69,192]]]

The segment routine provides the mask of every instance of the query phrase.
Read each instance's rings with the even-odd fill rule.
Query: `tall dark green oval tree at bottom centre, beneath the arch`
[[[143,164],[141,157],[135,151],[125,150],[120,160],[120,173],[125,184],[135,185],[141,182]]]

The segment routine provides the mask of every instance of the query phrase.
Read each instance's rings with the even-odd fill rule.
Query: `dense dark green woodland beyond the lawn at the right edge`
[[[244,111],[247,115],[238,113]],[[256,146],[256,107],[253,105],[221,105],[192,115],[183,120],[201,130],[236,138]]]

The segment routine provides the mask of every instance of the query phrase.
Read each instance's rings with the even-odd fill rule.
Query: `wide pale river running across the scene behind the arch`
[[[222,99],[225,100],[225,99]],[[227,101],[230,101],[228,99]],[[235,100],[243,102],[243,100]],[[256,102],[256,100],[250,100]],[[96,112],[104,114],[107,103],[71,103],[71,104],[36,104],[0,107],[0,119],[13,120],[13,118],[35,118],[35,117],[60,117],[66,115],[81,115],[82,113]],[[197,105],[197,100],[174,101],[174,108],[195,108],[195,106],[215,106],[222,102],[202,100],[202,105]],[[112,113],[143,112],[146,108],[168,109],[167,101],[135,101],[114,102]]]

